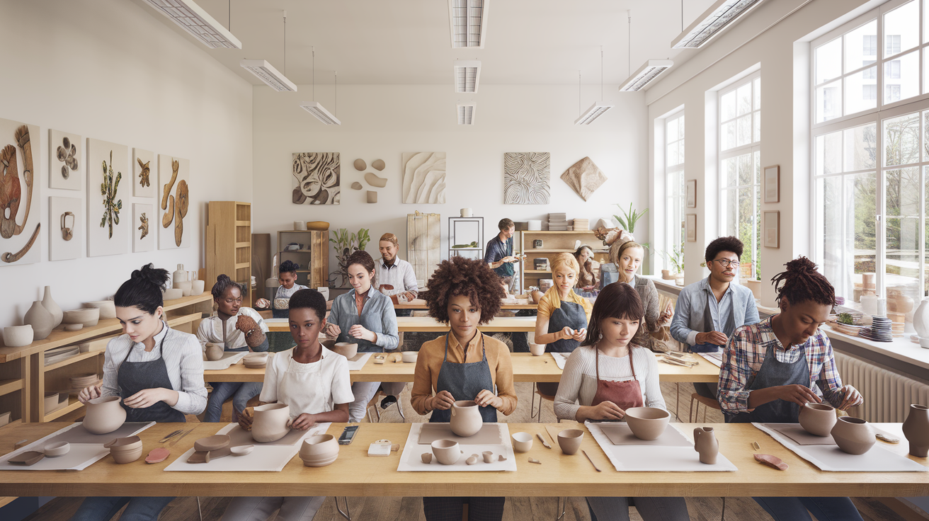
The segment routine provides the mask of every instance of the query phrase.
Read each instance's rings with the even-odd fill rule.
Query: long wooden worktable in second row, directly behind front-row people
[[[414,363],[405,363],[399,360],[399,353],[389,353],[386,363],[375,364],[374,358],[360,371],[350,371],[352,382],[412,382]],[[513,380],[515,382],[559,382],[561,370],[555,363],[555,358],[549,353],[541,357],[533,357],[529,353],[511,353],[513,359]],[[711,382],[719,381],[719,368],[709,361],[695,357],[700,362],[693,368],[658,363],[661,382]],[[264,369],[248,369],[241,363],[229,366],[222,371],[203,371],[205,382],[264,382]]]

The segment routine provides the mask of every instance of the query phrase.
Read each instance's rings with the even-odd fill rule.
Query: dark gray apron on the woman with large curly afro
[[[449,361],[449,334],[445,335],[445,358],[442,358],[442,368],[438,370],[436,393],[448,391],[455,400],[473,400],[484,389],[493,392],[491,366],[487,363],[487,350],[484,349],[484,333],[478,332],[480,335],[481,360],[479,362],[460,364]],[[464,354],[466,357],[466,348]],[[478,410],[480,410],[480,417],[484,420],[484,423],[497,421],[496,409],[486,406],[478,407]],[[451,409],[433,410],[429,422],[451,422]]]

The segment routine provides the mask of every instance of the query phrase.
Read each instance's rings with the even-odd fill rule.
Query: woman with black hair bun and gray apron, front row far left
[[[206,406],[203,355],[197,337],[171,329],[164,321],[162,287],[167,270],[151,265],[132,272],[116,292],[116,318],[123,333],[107,344],[103,383],[85,387],[82,403],[121,397],[126,422],[185,422]],[[124,519],[153,520],[174,498],[87,498],[72,520],[110,519],[128,503]]]

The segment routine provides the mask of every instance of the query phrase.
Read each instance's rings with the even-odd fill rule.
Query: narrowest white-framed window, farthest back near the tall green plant
[[[668,256],[684,264],[684,111],[664,120],[664,267],[677,270]]]

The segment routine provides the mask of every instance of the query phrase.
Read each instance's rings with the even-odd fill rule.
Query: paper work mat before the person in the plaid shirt
[[[791,452],[811,462],[821,471],[826,472],[925,472],[929,470],[920,463],[905,456],[895,454],[875,443],[864,454],[848,454],[837,445],[798,445],[790,437],[765,426],[765,423],[752,423],[764,431]]]

